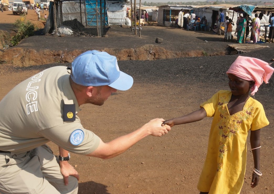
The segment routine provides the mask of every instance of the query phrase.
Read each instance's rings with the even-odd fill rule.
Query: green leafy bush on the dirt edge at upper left
[[[18,28],[18,32],[12,36],[12,40],[10,41],[13,46],[16,46],[22,39],[34,35],[34,25],[30,21],[22,22],[16,20],[14,25]]]

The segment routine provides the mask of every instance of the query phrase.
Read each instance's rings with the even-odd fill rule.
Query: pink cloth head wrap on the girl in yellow
[[[251,95],[254,95],[263,81],[268,83],[273,71],[274,69],[267,62],[256,58],[238,56],[226,73],[231,73],[247,81],[255,81],[254,86],[250,89]]]

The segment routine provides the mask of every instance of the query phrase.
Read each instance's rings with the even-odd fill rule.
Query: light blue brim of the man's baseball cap
[[[120,71],[120,76],[114,82],[109,84],[110,87],[117,89],[117,90],[128,90],[133,85],[133,78],[130,75],[127,75],[124,72]]]

